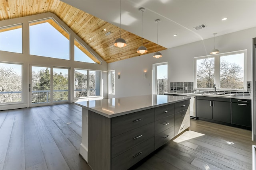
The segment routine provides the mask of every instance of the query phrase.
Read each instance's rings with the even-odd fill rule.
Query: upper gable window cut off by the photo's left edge
[[[0,50],[22,53],[22,25],[0,29]]]

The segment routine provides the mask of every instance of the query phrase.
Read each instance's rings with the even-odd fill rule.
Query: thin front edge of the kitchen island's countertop
[[[155,108],[155,107],[165,106],[165,105],[168,105],[168,104],[174,104],[174,103],[182,102],[182,101],[189,100],[189,99],[190,99],[190,97],[186,97],[184,99],[179,99],[179,100],[172,101],[172,102],[167,102],[167,103],[164,103],[164,104],[158,104],[158,105],[154,105],[154,106],[142,107],[142,108],[133,109],[133,110],[129,110],[129,111],[124,111],[124,112],[120,112],[120,113],[114,113],[112,115],[108,115],[108,114],[106,114],[104,112],[101,112],[101,111],[98,111],[96,109],[92,109],[90,107],[84,106],[84,105],[80,104],[80,102],[75,102],[74,104],[76,104],[78,106],[81,106],[84,109],[88,109],[90,111],[93,111],[94,113],[98,113],[98,114],[100,114],[100,115],[102,115],[104,117],[112,118],[112,117],[117,117],[117,116],[121,116],[121,115],[130,114],[130,113],[135,113],[135,112],[142,111],[142,110],[152,109],[152,108]]]

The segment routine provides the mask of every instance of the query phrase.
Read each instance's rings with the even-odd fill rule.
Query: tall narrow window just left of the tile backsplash
[[[153,64],[153,94],[164,94],[168,91],[168,64]]]

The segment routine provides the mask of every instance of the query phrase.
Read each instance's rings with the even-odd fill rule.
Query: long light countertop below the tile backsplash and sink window
[[[184,95],[184,96],[206,96],[206,97],[216,97],[216,98],[232,98],[232,99],[247,99],[251,100],[251,96],[235,96],[235,95],[216,95],[216,94],[202,94],[202,93],[164,93],[164,94],[174,94],[174,95]]]

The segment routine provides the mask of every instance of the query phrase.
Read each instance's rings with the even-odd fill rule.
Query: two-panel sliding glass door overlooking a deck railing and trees
[[[30,67],[30,106],[69,102],[69,69]]]

